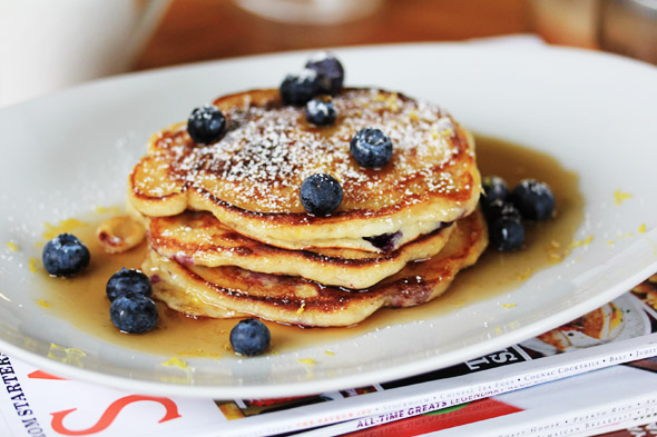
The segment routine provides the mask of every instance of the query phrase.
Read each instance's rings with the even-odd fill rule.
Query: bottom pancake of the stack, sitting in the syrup
[[[366,290],[323,286],[295,276],[258,274],[239,267],[185,266],[150,250],[143,265],[154,297],[190,316],[257,316],[300,326],[350,326],[382,307],[409,307],[440,296],[457,272],[479,258],[488,232],[479,210],[457,221],[434,257],[410,262]]]

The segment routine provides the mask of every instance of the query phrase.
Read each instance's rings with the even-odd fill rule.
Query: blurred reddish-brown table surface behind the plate
[[[171,0],[135,70],[297,49],[531,31],[527,0],[381,0],[372,14],[330,26],[263,19],[242,9],[237,0]]]

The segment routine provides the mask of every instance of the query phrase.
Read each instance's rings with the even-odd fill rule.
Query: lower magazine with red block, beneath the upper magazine
[[[657,359],[648,358],[345,436],[594,436],[617,430],[633,433],[631,428],[627,428],[654,423],[656,418]],[[336,436],[349,426],[344,423],[301,435]]]

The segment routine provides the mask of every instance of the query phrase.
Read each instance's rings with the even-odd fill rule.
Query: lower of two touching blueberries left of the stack
[[[148,296],[128,292],[114,299],[109,318],[124,332],[147,332],[157,325],[157,305]]]

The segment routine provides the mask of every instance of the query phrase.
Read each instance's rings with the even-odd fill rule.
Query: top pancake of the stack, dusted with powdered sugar
[[[214,105],[226,117],[223,138],[196,145],[185,123],[156,133],[128,198],[149,217],[210,211],[239,234],[292,250],[394,250],[475,208],[472,136],[444,110],[379,89],[345,89],[333,103],[335,125],[315,127],[275,89],[222,97]],[[393,141],[381,169],[350,155],[352,136],[365,127]],[[300,200],[302,181],[316,172],[331,173],[344,191],[329,217],[307,213]]]

